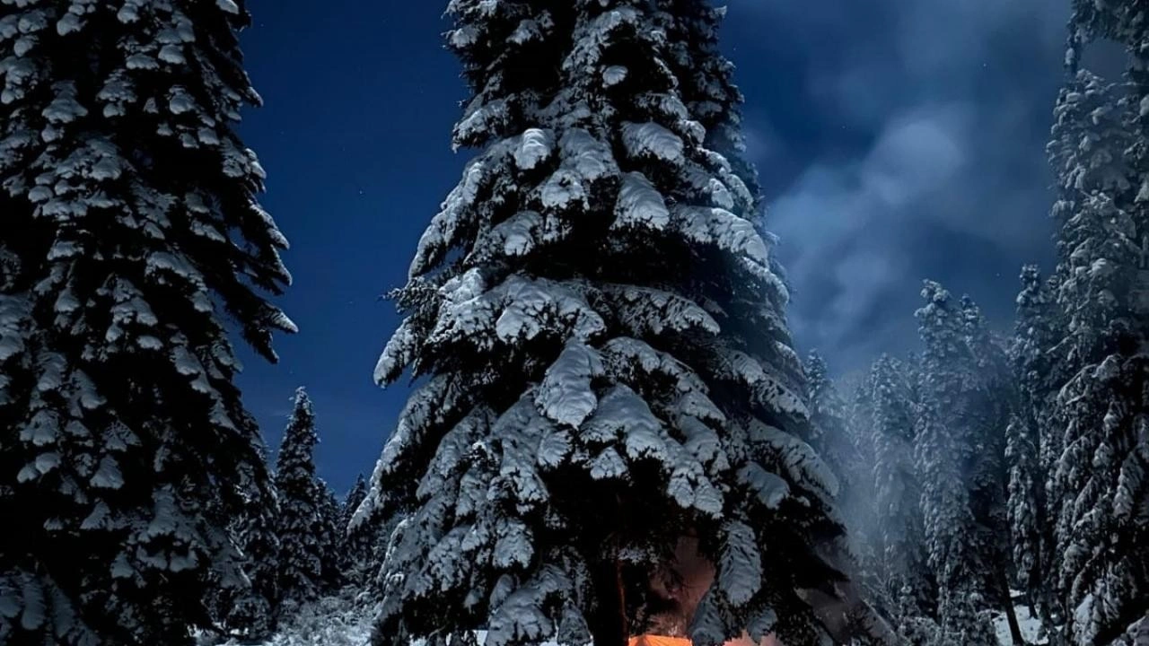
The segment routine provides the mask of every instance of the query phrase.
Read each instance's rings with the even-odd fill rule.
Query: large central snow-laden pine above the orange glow
[[[455,143],[483,151],[419,243],[376,372],[425,378],[357,514],[410,514],[378,644],[479,626],[492,646],[625,644],[689,533],[718,570],[696,644],[824,636],[800,591],[839,577],[815,549],[841,525],[801,439],[787,294],[671,62],[668,25],[710,10],[450,2],[475,93]]]

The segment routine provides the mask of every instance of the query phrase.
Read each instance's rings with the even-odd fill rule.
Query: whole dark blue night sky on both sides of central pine
[[[1044,161],[1067,0],[730,0],[724,48],[802,351],[842,374],[916,340],[924,277],[1010,325],[1024,262],[1052,259]],[[371,382],[423,226],[458,179],[465,98],[440,45],[446,0],[252,0],[247,68],[265,107],[241,132],[292,241],[278,366],[240,385],[278,446],[299,385],[321,475],[369,474],[407,392]]]

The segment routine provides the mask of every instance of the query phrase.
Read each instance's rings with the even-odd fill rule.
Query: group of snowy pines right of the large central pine
[[[986,610],[1020,643],[1011,589],[1050,643],[1149,633],[1147,25],[1075,5],[1048,147],[1058,263],[1023,269],[1013,332],[927,282],[916,354],[841,389],[808,362],[862,579],[915,643],[984,643]],[[1125,78],[1080,66],[1098,38],[1126,47]]]

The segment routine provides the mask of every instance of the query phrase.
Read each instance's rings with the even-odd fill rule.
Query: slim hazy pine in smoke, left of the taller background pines
[[[908,368],[882,355],[865,382],[873,443],[874,533],[884,595],[896,600],[900,623],[935,617],[938,591],[928,566],[921,517],[921,482],[913,460],[917,410]]]

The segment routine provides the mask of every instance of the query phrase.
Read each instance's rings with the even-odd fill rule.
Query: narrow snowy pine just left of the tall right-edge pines
[[[1050,577],[1056,572],[1057,555],[1046,480],[1050,466],[1061,457],[1059,433],[1050,415],[1064,384],[1057,361],[1063,338],[1050,283],[1042,279],[1038,267],[1024,267],[1010,348],[1018,400],[1007,430],[1008,513],[1018,582],[1046,625],[1062,622],[1052,599],[1056,586]]]

